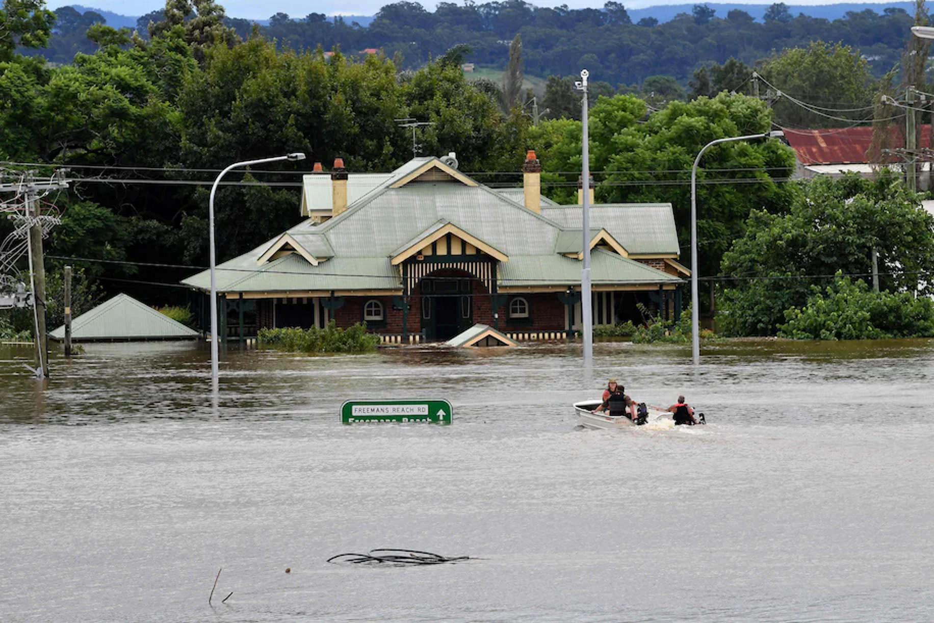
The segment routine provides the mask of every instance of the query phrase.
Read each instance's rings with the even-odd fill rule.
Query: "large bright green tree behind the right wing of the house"
[[[672,102],[647,120],[646,113],[644,101],[631,95],[601,98],[593,106],[590,163],[597,172],[597,200],[670,202],[678,239],[686,244],[690,171],[697,154],[716,138],[768,132],[770,111],[755,98],[721,93],[713,99]],[[542,160],[543,183],[573,186],[576,176],[561,177],[557,172],[580,170],[580,123],[570,127],[554,123],[547,121],[531,134],[531,147]],[[698,172],[702,275],[719,271],[720,258],[743,234],[751,210],[785,209],[794,191],[776,184],[773,177],[787,177],[794,165],[791,149],[777,140],[727,143],[704,153]],[[613,173],[601,175],[602,171]],[[568,186],[545,188],[556,200],[573,201]]]

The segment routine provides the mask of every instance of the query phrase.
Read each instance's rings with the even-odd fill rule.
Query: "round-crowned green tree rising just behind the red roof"
[[[783,126],[834,127],[848,120],[871,119],[876,80],[858,50],[840,43],[813,41],[762,62],[759,74],[790,97],[775,102],[775,120]],[[818,107],[801,106],[791,98]],[[824,108],[852,109],[827,112]]]

